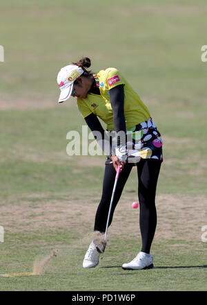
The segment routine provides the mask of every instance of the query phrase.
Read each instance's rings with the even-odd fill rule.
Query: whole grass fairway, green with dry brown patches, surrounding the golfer
[[[0,290],[206,290],[206,1],[3,1],[0,4]],[[150,109],[164,140],[152,270],[124,271],[141,247],[133,169],[97,268],[83,270],[104,156],[68,156],[84,121],[75,99],[57,105],[59,69],[82,55],[117,67]],[[127,218],[126,218],[127,215]]]

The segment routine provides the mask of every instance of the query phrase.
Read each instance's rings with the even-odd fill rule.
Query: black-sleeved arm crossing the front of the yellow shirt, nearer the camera
[[[126,134],[126,123],[124,116],[124,85],[118,85],[109,90],[110,94],[110,103],[113,110],[113,121],[115,125],[116,132],[124,132]],[[121,141],[121,139],[120,139]],[[123,143],[118,143],[119,145],[124,145],[126,141],[125,136],[123,137]]]

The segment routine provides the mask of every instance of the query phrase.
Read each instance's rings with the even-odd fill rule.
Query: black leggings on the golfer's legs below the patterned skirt
[[[142,240],[141,251],[146,253],[150,253],[150,247],[155,235],[155,229],[157,225],[155,194],[160,166],[161,162],[155,159],[141,159],[141,161],[137,163],[137,175],[139,181],[138,198],[140,209],[139,225]],[[112,217],[115,211],[115,207],[119,202],[119,198],[121,197],[121,193],[124,189],[126,181],[128,180],[128,176],[130,175],[131,169],[132,164],[127,163],[119,175],[117,189],[115,192],[115,197],[110,214],[109,225],[112,223]],[[105,173],[103,177],[103,191],[101,201],[99,203],[97,214],[95,216],[95,231],[106,231],[106,222],[108,218],[112,189],[115,183],[115,175],[116,171],[113,165],[106,164]]]

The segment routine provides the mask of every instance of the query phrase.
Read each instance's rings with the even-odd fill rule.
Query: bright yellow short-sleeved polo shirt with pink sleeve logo
[[[124,85],[124,116],[126,129],[148,121],[150,112],[132,89],[119,70],[108,68],[96,73],[99,78],[101,95],[88,94],[87,98],[77,98],[77,106],[83,118],[93,113],[107,125],[107,130],[115,130],[109,90],[117,85]]]

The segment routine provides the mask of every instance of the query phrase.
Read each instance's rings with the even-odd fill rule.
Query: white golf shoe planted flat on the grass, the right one
[[[124,263],[122,269],[124,270],[140,270],[153,268],[153,258],[150,254],[139,252],[135,259],[130,263]]]

